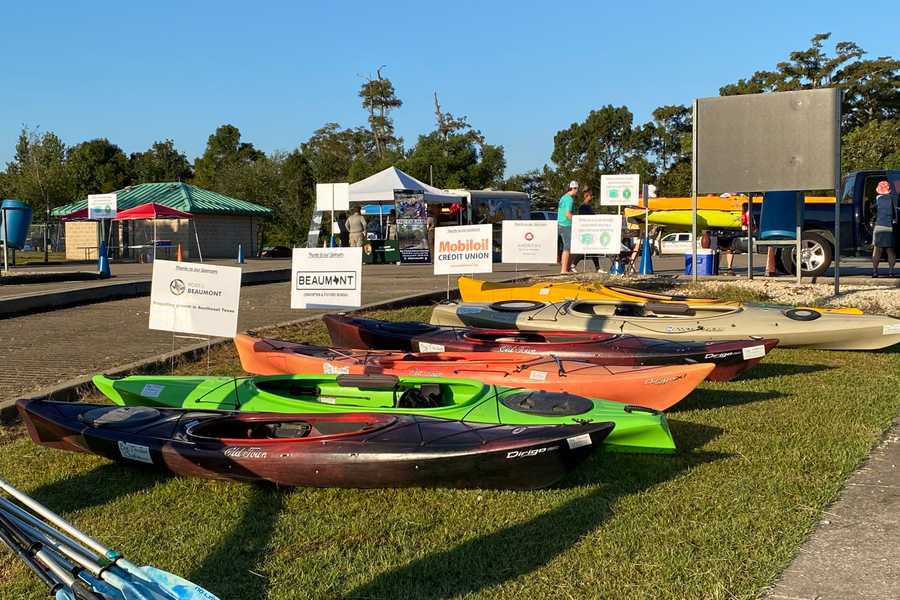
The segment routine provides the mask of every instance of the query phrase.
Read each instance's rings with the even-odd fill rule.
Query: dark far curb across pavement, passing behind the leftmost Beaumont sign
[[[248,271],[241,274],[241,286],[280,283],[282,281],[290,281],[290,279],[290,268]],[[0,319],[47,312],[58,308],[70,308],[97,302],[137,298],[149,295],[149,279],[111,283],[60,292],[38,292],[30,296],[18,296],[9,300],[0,300]]]

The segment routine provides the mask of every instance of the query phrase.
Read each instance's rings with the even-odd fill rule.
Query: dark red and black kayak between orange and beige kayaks
[[[675,342],[627,334],[576,331],[518,331],[382,321],[325,315],[335,346],[408,352],[519,352],[556,356],[604,366],[713,363],[711,381],[730,381],[778,345],[774,339]]]

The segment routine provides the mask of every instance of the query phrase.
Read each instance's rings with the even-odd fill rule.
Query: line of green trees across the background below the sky
[[[838,86],[844,90],[844,171],[900,168],[900,61],[869,58],[852,42],[825,49],[830,34],[791,52],[772,70],[720,88],[736,95]],[[441,188],[499,188],[528,193],[535,206],[553,206],[565,183],[599,187],[605,173],[640,173],[660,195],[690,194],[691,109],[660,106],[638,123],[627,106],[601,106],[556,133],[550,162],[504,179],[504,148],[487,142],[465,116],[445,110],[434,95],[434,128],[407,147],[396,135],[394,111],[403,105],[383,67],[358,90],[365,125],[326,123],[290,151],[265,153],[220,126],[203,155],[188,160],[171,139],[126,155],[106,138],[67,146],[52,131],[24,127],[15,156],[0,171],[0,196],[31,203],[40,222],[54,207],[90,193],[144,182],[186,181],[271,208],[267,240],[304,239],[315,204],[315,182],[358,181],[395,165]]]

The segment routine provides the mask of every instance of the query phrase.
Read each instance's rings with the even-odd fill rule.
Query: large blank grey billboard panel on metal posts
[[[697,193],[833,188],[840,111],[833,88],[697,100]]]

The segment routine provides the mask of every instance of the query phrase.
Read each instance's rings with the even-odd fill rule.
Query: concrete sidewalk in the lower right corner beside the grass
[[[900,598],[900,419],[847,481],[767,598]]]

